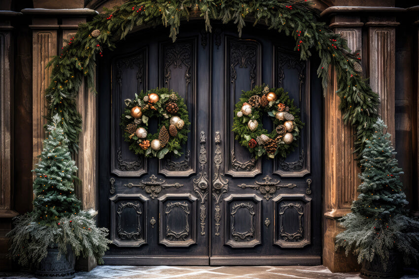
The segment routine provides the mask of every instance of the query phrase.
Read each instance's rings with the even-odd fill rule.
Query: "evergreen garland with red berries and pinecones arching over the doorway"
[[[115,48],[135,26],[159,25],[170,28],[175,41],[180,22],[188,20],[191,13],[199,13],[211,31],[211,20],[237,24],[239,36],[246,25],[245,19],[254,18],[254,24],[264,24],[295,39],[294,50],[307,60],[312,51],[321,59],[317,75],[322,80],[324,93],[329,80],[329,66],[337,72],[340,109],[346,123],[355,129],[355,152],[359,153],[365,140],[372,134],[377,121],[379,96],[360,75],[362,71],[357,54],[349,52],[347,41],[334,34],[307,0],[131,0],[121,6],[106,9],[91,22],[79,25],[77,33],[63,47],[62,54],[55,56],[48,66],[53,66],[51,83],[45,91],[51,118],[58,113],[70,140],[70,148],[77,151],[78,134],[82,119],[77,112],[75,99],[83,77],[87,85],[95,87],[95,60],[102,56],[104,47]],[[96,91],[95,91],[96,92]]]

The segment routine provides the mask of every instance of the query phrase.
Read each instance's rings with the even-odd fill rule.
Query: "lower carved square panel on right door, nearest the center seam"
[[[255,194],[231,194],[224,200],[224,242],[233,248],[249,248],[261,243],[261,201]]]

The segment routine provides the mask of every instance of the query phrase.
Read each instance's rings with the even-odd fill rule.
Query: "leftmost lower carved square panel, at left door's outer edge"
[[[119,247],[139,247],[145,244],[148,199],[141,194],[116,194],[109,201],[110,238],[113,244]]]

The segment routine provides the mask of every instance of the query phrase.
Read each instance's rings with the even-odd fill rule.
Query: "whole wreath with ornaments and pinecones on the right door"
[[[277,154],[286,157],[297,146],[296,139],[304,125],[299,112],[283,88],[256,86],[243,92],[236,104],[233,132],[256,159],[264,154],[269,158]],[[272,118],[274,129],[271,133],[262,126],[264,113]]]

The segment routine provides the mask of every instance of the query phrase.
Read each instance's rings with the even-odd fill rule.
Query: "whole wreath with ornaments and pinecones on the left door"
[[[188,109],[176,92],[167,89],[152,89],[135,94],[135,99],[125,100],[126,108],[120,126],[130,150],[145,157],[162,159],[173,152],[180,156],[181,144],[188,139]],[[148,133],[148,119],[159,117],[158,133]]]

